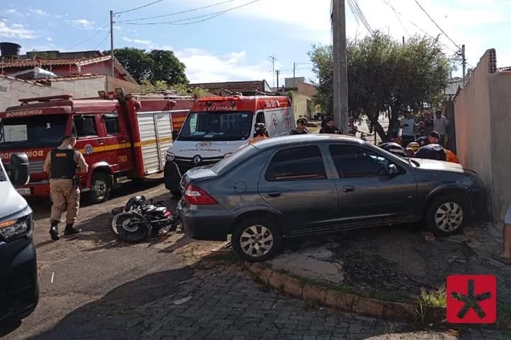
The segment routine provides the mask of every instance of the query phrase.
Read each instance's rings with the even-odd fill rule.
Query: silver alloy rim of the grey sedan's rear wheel
[[[250,257],[261,257],[272,250],[275,240],[270,229],[264,225],[251,225],[239,238],[241,250]]]

